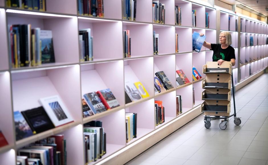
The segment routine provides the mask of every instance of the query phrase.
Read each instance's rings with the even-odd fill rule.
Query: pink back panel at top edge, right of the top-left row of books
[[[77,1],[46,0],[46,11],[53,13],[77,14]]]

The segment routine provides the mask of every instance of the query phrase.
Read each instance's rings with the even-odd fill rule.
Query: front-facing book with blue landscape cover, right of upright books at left
[[[51,30],[40,30],[40,40],[42,41],[42,63],[54,63],[54,48]]]

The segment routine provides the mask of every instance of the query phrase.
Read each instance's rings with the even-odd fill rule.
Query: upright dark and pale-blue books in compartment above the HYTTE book
[[[80,61],[93,61],[93,37],[91,29],[79,30],[79,52]]]

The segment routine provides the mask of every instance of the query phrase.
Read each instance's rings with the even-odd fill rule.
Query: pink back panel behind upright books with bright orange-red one
[[[165,107],[165,117],[176,117],[176,91],[157,96],[155,100],[162,100]]]

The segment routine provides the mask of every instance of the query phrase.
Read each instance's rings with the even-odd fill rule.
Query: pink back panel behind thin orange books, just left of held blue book
[[[192,28],[178,28],[176,27],[176,33],[178,34],[179,41],[179,53],[192,51]]]

